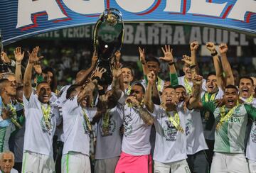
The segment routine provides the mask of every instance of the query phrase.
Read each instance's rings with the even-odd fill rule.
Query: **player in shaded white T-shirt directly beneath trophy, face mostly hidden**
[[[99,94],[104,94],[100,90]],[[95,173],[113,173],[119,160],[122,147],[123,109],[110,89],[105,94],[107,110],[97,121],[97,143],[95,154]],[[101,108],[102,109],[102,108]]]

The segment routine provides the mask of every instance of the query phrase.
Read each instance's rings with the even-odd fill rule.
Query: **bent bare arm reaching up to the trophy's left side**
[[[88,75],[92,72],[92,70],[95,68],[97,62],[97,53],[96,51],[93,52],[92,55],[92,64],[89,69],[82,69],[78,72],[75,78],[75,84],[84,84]]]

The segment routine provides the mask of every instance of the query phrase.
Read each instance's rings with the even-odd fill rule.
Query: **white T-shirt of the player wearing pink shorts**
[[[124,106],[124,136],[122,152],[129,155],[149,155],[151,125],[146,125],[137,108]]]

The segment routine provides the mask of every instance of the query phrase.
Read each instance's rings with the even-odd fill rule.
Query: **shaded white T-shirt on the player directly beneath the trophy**
[[[110,121],[107,130],[102,126],[103,118],[100,118],[97,124],[96,160],[110,159],[121,154],[122,136],[120,128],[123,113],[122,106],[119,105],[110,109],[108,112]]]

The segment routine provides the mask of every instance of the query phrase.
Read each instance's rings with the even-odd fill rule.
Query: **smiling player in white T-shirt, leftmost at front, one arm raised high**
[[[23,81],[26,130],[22,172],[55,172],[52,145],[60,118],[58,109],[49,104],[51,90],[47,82],[38,84],[33,94],[31,76],[33,64],[40,60],[38,50],[36,47],[29,53]]]

